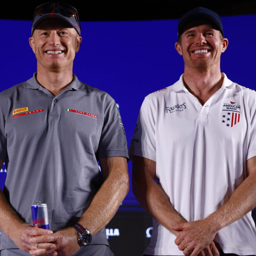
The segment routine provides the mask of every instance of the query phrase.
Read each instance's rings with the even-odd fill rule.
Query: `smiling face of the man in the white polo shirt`
[[[205,24],[206,23],[206,24]],[[183,56],[186,68],[220,68],[220,55],[228,46],[227,38],[220,35],[207,21],[189,23],[175,44]]]

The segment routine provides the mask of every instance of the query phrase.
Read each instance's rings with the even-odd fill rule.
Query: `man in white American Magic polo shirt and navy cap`
[[[129,152],[134,195],[154,218],[144,253],[255,255],[256,92],[220,72],[217,13],[183,15],[178,40],[184,74],[145,98]]]

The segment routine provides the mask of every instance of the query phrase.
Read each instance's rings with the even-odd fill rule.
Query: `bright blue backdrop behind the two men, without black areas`
[[[222,54],[221,71],[232,81],[255,89],[256,15],[223,17],[222,21],[229,45]],[[174,48],[177,24],[178,20],[82,22],[83,41],[74,73],[116,100],[128,145],[144,97],[173,84],[183,72],[182,57]],[[0,20],[0,26],[3,91],[29,79],[36,72],[36,58],[28,44],[31,21]],[[4,171],[3,167],[2,188]],[[131,189],[120,211],[127,209],[141,209]]]

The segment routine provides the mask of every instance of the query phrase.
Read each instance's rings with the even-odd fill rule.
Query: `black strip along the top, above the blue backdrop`
[[[35,7],[46,1],[20,1],[1,3],[1,19],[32,20]],[[52,2],[52,1],[49,1]],[[256,13],[256,1],[204,1],[184,3],[184,1],[59,1],[74,6],[82,21],[113,20],[168,20],[179,19],[181,15],[197,6],[203,6],[217,12],[220,16],[243,15]]]

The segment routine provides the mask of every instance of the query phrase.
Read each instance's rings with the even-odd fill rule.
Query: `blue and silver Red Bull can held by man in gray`
[[[40,201],[36,201],[36,204],[31,206],[31,211],[35,228],[50,229],[47,204],[41,204]]]

